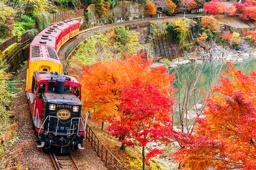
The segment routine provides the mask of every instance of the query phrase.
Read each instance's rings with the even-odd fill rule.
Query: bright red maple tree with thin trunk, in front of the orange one
[[[172,87],[168,91],[173,91]],[[151,149],[147,155],[145,147],[149,142],[169,142],[172,133],[171,106],[172,96],[161,92],[157,84],[133,80],[124,86],[119,105],[121,119],[111,117],[108,130],[113,135],[126,135],[132,140],[123,140],[123,144],[135,145],[135,140],[142,146],[143,169],[149,158],[162,153],[161,149]]]

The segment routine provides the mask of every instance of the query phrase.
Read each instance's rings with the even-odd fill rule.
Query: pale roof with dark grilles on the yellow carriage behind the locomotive
[[[55,48],[46,45],[30,45],[30,61],[41,60],[53,61],[60,64]]]

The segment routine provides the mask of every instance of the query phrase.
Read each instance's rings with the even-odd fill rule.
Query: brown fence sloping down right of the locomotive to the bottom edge
[[[89,128],[86,127],[85,138],[88,139],[91,143],[92,148],[97,153],[97,156],[101,158],[101,161],[105,163],[108,169],[123,169],[123,164],[114,156],[97,138],[95,133]]]

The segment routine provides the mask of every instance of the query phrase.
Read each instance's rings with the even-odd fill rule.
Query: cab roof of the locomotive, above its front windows
[[[78,80],[75,79],[75,77],[59,74],[57,72],[53,73],[50,71],[34,71],[33,74],[37,77],[38,80],[67,80],[73,83],[79,83]]]

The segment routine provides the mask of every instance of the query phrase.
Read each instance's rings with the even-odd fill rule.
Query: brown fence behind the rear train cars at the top
[[[80,17],[84,17],[85,9],[78,9],[75,11],[67,11],[67,12],[57,12],[52,14],[50,19],[50,24],[55,24],[56,22],[65,21],[67,19],[76,19]]]

